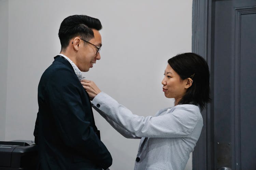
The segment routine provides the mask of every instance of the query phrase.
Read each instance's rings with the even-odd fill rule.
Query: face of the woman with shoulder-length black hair
[[[185,95],[186,89],[188,88],[188,80],[181,80],[179,74],[169,64],[167,64],[164,75],[165,77],[162,80],[163,92],[165,92],[165,97],[175,98],[176,105]]]

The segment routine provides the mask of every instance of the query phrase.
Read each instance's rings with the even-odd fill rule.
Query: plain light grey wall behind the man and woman
[[[154,115],[173,106],[161,81],[167,60],[191,51],[192,0],[0,0],[0,14],[0,137],[5,140],[33,140],[38,83],[59,54],[58,29],[69,15],[102,22],[101,60],[85,73],[87,79],[134,114]],[[94,115],[113,157],[110,169],[133,169],[139,140],[124,138]],[[191,169],[191,159],[186,169]]]

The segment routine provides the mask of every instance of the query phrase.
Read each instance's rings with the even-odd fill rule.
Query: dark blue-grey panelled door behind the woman
[[[207,152],[195,155],[207,158],[193,161],[205,165],[193,167],[256,170],[256,0],[215,0],[209,8],[205,54],[213,100],[198,143]]]

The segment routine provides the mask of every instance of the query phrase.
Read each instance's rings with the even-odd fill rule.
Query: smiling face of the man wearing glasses
[[[98,49],[95,46],[101,47],[101,35],[99,31],[95,29],[93,29],[93,32],[94,38],[89,40],[91,44],[82,39],[79,43],[80,48],[79,51],[77,51],[76,65],[83,72],[89,71],[89,69],[93,67],[93,64],[95,64],[97,60],[100,60],[100,52],[97,53]]]

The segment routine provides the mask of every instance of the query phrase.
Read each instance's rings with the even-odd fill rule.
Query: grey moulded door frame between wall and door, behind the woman
[[[192,5],[192,52],[201,55],[210,69],[210,91],[213,98],[214,65],[214,0],[193,0]],[[203,129],[193,152],[193,170],[214,168],[214,117],[213,104],[202,111]]]

